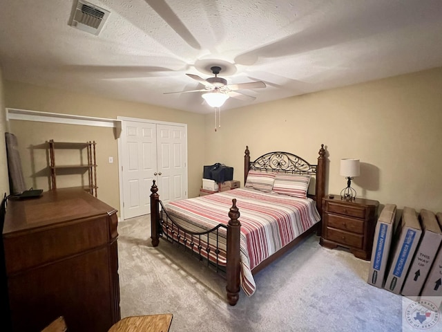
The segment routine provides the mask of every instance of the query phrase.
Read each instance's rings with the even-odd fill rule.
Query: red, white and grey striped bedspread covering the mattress
[[[251,270],[320,220],[311,199],[238,188],[166,204],[172,216],[209,230],[227,225],[232,199],[240,210],[241,286],[246,295],[255,292]]]

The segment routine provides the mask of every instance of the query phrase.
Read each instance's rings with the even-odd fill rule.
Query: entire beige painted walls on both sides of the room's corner
[[[320,144],[324,143],[329,152],[327,193],[338,194],[346,185],[339,175],[340,158],[360,158],[361,176],[353,183],[358,196],[376,199],[381,204],[395,203],[398,208],[441,211],[440,86],[442,68],[436,68],[222,111],[222,127],[217,132],[213,130],[213,114],[202,116],[17,82],[6,81],[3,90],[5,107],[188,124],[189,196],[198,195],[202,165],[209,163],[233,166],[234,178],[242,181],[246,145],[252,158],[282,150],[314,162]],[[30,147],[51,138],[96,140],[99,197],[113,206],[119,205],[117,164],[107,163],[108,156],[117,156],[117,140],[111,129],[11,122],[22,158],[26,156],[23,164],[27,165],[23,168],[29,185],[35,183],[34,174],[43,174],[47,165],[45,155],[39,156],[39,162],[32,166],[31,151],[42,151]],[[47,174],[42,178],[39,181],[47,183]]]

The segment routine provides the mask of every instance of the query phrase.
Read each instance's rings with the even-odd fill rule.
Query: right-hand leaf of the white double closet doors
[[[163,203],[187,196],[186,131],[157,124],[158,193]]]

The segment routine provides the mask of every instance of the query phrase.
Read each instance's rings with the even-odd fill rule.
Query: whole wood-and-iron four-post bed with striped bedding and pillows
[[[234,306],[240,287],[253,295],[253,275],[312,232],[320,234],[325,149],[308,163],[275,151],[251,161],[244,153],[244,187],[163,204],[151,187],[151,240],[176,243],[221,272]]]

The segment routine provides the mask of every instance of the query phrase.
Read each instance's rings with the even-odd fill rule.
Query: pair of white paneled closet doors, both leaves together
[[[124,219],[151,213],[153,180],[163,202],[187,197],[185,125],[124,119],[120,142]]]

